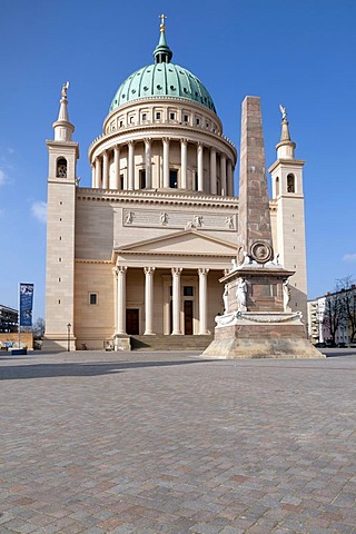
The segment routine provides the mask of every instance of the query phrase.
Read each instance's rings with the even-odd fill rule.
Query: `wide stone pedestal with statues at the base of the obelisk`
[[[323,358],[306,337],[300,312],[291,313],[288,277],[278,263],[245,265],[220,279],[224,315],[202,353],[215,358]],[[241,289],[243,288],[243,289]]]

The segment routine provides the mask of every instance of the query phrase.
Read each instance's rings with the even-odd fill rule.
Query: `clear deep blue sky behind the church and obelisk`
[[[237,147],[240,103],[261,98],[267,167],[287,108],[306,160],[308,296],[356,277],[354,0],[1,0],[0,304],[17,307],[18,283],[34,283],[44,316],[44,140],[62,83],[89,187],[88,147],[121,81],[152,62],[161,12],[172,61],[201,79]]]

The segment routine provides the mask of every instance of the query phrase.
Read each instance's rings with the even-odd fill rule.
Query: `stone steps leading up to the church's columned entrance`
[[[131,350],[205,350],[214,335],[204,336],[130,336]]]

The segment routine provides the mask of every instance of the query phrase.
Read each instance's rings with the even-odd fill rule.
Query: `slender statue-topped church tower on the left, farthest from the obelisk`
[[[47,141],[49,155],[47,199],[46,342],[44,348],[75,347],[75,228],[77,160],[73,125],[68,115],[69,83],[61,90],[55,139]],[[71,325],[70,327],[68,325]]]

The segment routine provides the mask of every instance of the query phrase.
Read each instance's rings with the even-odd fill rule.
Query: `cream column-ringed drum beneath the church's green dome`
[[[90,146],[92,187],[233,196],[236,149],[216,132],[219,122],[208,109],[168,98],[126,105]]]

